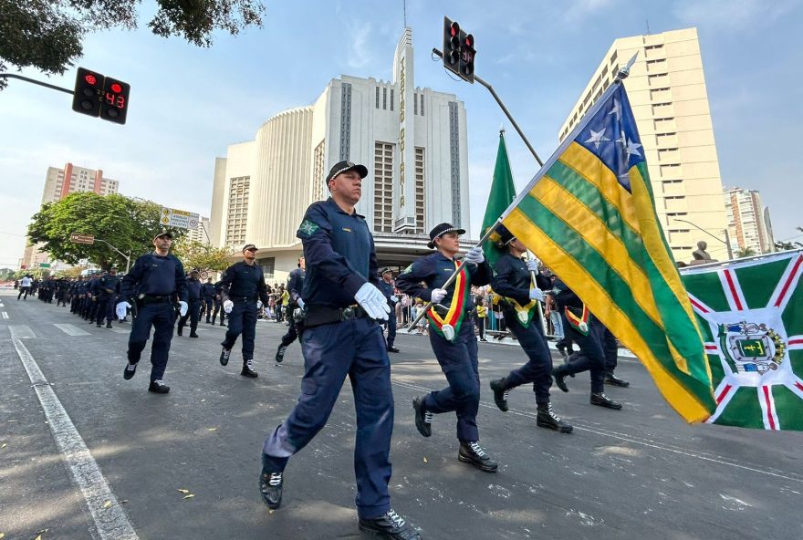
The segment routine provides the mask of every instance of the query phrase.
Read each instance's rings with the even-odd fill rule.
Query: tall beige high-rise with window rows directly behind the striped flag
[[[577,126],[636,53],[624,86],[667,242],[677,261],[692,259],[700,240],[714,259],[725,260],[727,217],[696,28],[614,41],[561,126],[559,139]]]

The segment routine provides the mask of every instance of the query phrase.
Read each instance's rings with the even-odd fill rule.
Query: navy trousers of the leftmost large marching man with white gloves
[[[151,380],[162,379],[167,367],[167,355],[170,353],[172,327],[175,323],[175,310],[171,302],[157,302],[139,306],[137,318],[131,324],[129,336],[128,358],[131,364],[140,361],[142,349],[151,337]]]

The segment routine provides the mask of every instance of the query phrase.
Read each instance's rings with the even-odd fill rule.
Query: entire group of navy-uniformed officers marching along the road
[[[279,508],[284,488],[284,472],[289,458],[303,449],[320,431],[337,401],[347,377],[351,381],[359,429],[356,434],[354,467],[357,477],[356,505],[362,530],[396,540],[420,539],[422,535],[401,514],[391,508],[388,483],[391,478],[391,433],[393,398],[389,352],[393,345],[395,317],[391,272],[380,273],[373,237],[363,216],[355,212],[360,201],[361,182],[368,174],[365,166],[351,161],[336,163],[327,176],[330,197],[307,209],[297,230],[304,256],[288,278],[289,299],[286,313],[289,327],[281,338],[275,359],[284,359],[287,347],[298,337],[304,357],[301,392],[287,420],[266,437],[262,452],[259,488],[265,504]],[[503,301],[509,328],[524,349],[527,363],[502,379],[490,381],[496,406],[508,410],[508,392],[532,383],[537,407],[537,425],[561,433],[572,426],[552,409],[549,389],[553,380],[568,391],[567,377],[589,371],[589,402],[611,410],[621,404],[610,400],[604,384],[628,386],[617,378],[617,344],[610,331],[589,313],[576,296],[557,277],[538,273],[534,261],[523,260],[527,248],[504,226],[497,229],[497,247],[504,254],[494,267],[485,261],[480,246],[462,257],[460,237],[463,229],[440,223],[430,231],[427,246],[434,250],[415,260],[396,278],[402,292],[431,302],[426,314],[433,354],[443,370],[447,386],[412,400],[415,426],[423,437],[433,432],[434,417],[454,412],[459,441],[457,458],[484,472],[496,472],[497,463],[479,443],[476,416],[480,400],[477,367],[477,337],[470,315],[473,308],[471,287],[491,285]],[[242,336],[241,375],[256,378],[254,339],[256,320],[268,303],[262,268],[255,264],[257,247],[246,244],[243,260],[229,266],[220,281],[202,283],[197,270],[186,274],[181,261],[170,254],[172,234],[158,231],[153,252],[143,254],[122,278],[109,272],[77,279],[37,281],[30,276],[19,283],[17,299],[37,295],[57,306],[70,306],[70,312],[95,324],[110,328],[115,320],[127,322],[134,316],[128,342],[128,362],[124,379],[137,371],[141,353],[151,337],[151,376],[149,391],[167,394],[163,381],[173,328],[183,335],[189,322],[189,337],[198,337],[198,323],[228,328],[219,361],[226,366],[237,337]],[[459,269],[456,278],[450,277]],[[445,286],[447,281],[449,286]],[[563,317],[566,341],[579,352],[566,355],[566,361],[552,368],[547,339],[538,323],[537,305],[551,295]],[[178,325],[176,325],[178,319]],[[390,320],[389,320],[390,319]],[[382,323],[387,323],[388,338]],[[570,349],[570,345],[569,345]],[[565,354],[565,353],[564,353]]]

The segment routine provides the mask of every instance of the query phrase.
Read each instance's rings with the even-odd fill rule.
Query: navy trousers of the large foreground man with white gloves
[[[295,409],[265,441],[263,452],[274,469],[307,446],[326,425],[346,376],[357,410],[354,472],[357,513],[372,519],[391,509],[391,362],[381,326],[358,318],[311,327],[301,335],[304,378]]]

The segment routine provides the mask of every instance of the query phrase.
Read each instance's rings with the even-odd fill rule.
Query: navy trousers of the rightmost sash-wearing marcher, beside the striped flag
[[[574,341],[580,348],[578,355],[572,355],[567,364],[564,364],[566,373],[574,375],[582,371],[589,371],[591,375],[591,392],[599,393],[605,389],[606,355],[610,356],[611,343],[613,345],[614,362],[616,362],[616,338],[604,327],[600,320],[593,315],[589,316],[589,335],[583,336],[575,327],[568,324],[566,314],[561,312],[563,317],[563,331],[566,337]],[[610,335],[606,337],[606,334]],[[615,366],[615,364],[614,364]]]

